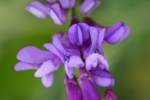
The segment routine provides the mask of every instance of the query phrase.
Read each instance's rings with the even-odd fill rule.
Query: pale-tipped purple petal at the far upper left
[[[32,2],[26,7],[26,10],[41,19],[45,19],[48,16],[48,8],[38,1]]]

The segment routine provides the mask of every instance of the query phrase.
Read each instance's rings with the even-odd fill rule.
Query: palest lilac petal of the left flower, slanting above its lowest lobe
[[[49,73],[53,73],[58,69],[58,66],[54,65],[54,63],[50,60],[44,62],[41,67],[36,71],[35,77],[43,77]]]

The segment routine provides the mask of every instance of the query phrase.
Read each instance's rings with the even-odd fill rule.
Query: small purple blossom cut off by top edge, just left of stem
[[[67,9],[67,8],[73,8],[75,5],[75,0],[59,0],[62,7]]]

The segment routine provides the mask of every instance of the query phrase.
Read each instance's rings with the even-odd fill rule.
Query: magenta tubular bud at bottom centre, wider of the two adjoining
[[[80,75],[79,84],[83,94],[83,100],[101,100],[96,86],[86,74]]]

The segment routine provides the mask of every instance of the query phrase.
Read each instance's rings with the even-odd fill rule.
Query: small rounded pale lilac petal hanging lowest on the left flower
[[[54,80],[53,73],[42,77],[42,83],[43,83],[44,87],[46,87],[46,88],[49,88],[52,86],[53,80]]]

